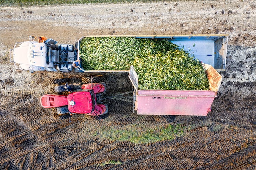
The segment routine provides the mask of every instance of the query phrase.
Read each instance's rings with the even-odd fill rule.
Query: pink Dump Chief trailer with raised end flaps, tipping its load
[[[206,116],[219,90],[222,77],[204,64],[209,90],[138,90],[138,75],[130,67],[129,78],[134,86],[133,108],[139,115]]]

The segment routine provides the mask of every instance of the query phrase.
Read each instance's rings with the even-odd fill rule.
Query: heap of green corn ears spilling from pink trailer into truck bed
[[[138,74],[138,89],[209,90],[202,64],[167,40],[134,37],[89,37],[80,41],[85,70],[129,70]]]

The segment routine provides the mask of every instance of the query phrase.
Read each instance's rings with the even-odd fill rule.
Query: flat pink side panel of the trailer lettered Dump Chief
[[[139,115],[206,116],[215,98],[213,91],[139,90]]]

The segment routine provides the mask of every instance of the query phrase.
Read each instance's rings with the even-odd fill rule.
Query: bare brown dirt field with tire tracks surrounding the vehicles
[[[237,0],[0,7],[1,169],[256,169],[256,2]],[[16,70],[9,48],[29,35],[74,44],[83,35],[229,34],[226,71],[207,116],[140,116],[108,100],[102,121],[56,116],[38,97],[50,78],[85,74]],[[89,74],[88,74],[89,75]],[[127,73],[107,74],[108,95],[132,90]],[[138,144],[108,131],[183,128],[173,140]],[[119,134],[117,134],[119,135]],[[106,163],[108,160],[118,162]]]

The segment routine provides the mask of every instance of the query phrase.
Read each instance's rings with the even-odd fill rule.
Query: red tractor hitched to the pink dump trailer
[[[79,87],[77,89],[77,87]],[[102,104],[100,96],[106,91],[105,83],[70,84],[55,86],[55,92],[68,91],[68,95],[45,94],[39,97],[43,108],[57,108],[57,114],[87,114],[99,116],[108,113],[108,106]],[[70,122],[70,119],[69,119]]]

